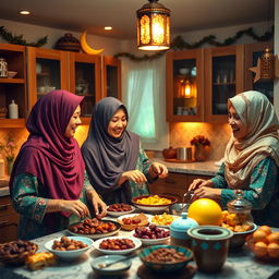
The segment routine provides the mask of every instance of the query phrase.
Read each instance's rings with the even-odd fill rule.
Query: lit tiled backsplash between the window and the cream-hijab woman
[[[170,146],[191,146],[190,141],[196,135],[204,135],[210,141],[208,160],[220,160],[231,136],[229,124],[211,123],[170,123]]]

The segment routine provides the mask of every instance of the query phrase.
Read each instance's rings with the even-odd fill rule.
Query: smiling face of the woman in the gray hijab
[[[108,134],[116,138],[120,137],[126,124],[126,114],[123,109],[119,109],[109,121]]]

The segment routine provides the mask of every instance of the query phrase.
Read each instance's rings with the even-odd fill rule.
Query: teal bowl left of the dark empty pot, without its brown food
[[[150,253],[153,253],[154,251],[156,251],[158,248],[173,248],[177,252],[182,253],[186,257],[186,259],[183,262],[177,262],[177,263],[173,263],[173,262],[155,263],[155,262],[149,262],[149,260],[145,259],[146,256],[148,256]],[[180,269],[184,268],[187,265],[187,263],[193,258],[193,252],[190,248],[182,247],[182,246],[156,245],[156,246],[149,246],[149,247],[144,248],[138,254],[138,257],[141,258],[141,260],[147,268],[153,269],[155,271],[165,272],[165,271],[175,271],[175,270],[180,270]]]

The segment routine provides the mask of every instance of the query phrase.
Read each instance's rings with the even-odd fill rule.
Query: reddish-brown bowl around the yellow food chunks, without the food
[[[142,198],[148,198],[154,195],[142,195],[142,196],[135,196],[132,198],[132,203],[140,209],[148,213],[161,213],[169,208],[169,206],[175,204],[178,202],[178,198],[170,195],[157,195],[161,198],[168,198],[171,202],[169,204],[158,204],[158,205],[147,205],[147,204],[140,204],[137,201]]]

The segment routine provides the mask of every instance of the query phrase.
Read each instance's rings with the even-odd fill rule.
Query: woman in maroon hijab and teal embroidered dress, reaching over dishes
[[[106,204],[86,180],[74,134],[83,97],[53,90],[33,107],[10,180],[13,206],[21,215],[19,239],[29,240],[65,229],[89,216],[106,214]],[[89,204],[88,203],[88,204]],[[98,211],[100,208],[100,213]]]

